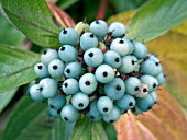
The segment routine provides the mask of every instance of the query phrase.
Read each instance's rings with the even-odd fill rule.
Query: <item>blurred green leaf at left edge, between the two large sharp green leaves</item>
[[[0,44],[20,46],[25,39],[25,36],[11,25],[2,15],[0,15]]]

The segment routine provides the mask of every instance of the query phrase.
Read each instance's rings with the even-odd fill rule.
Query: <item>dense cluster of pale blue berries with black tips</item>
[[[156,89],[165,82],[162,66],[125,33],[122,23],[108,26],[102,20],[64,28],[63,46],[44,51],[35,65],[40,80],[30,88],[31,98],[47,98],[50,115],[61,114],[65,121],[87,115],[114,122],[128,110],[150,110],[157,101]]]

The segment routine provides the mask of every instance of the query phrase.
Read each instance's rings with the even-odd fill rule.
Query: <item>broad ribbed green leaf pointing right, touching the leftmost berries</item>
[[[36,79],[34,65],[40,55],[8,45],[0,45],[0,92]],[[6,81],[6,82],[4,82]]]

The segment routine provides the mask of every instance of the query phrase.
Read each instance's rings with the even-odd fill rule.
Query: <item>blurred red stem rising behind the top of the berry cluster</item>
[[[98,15],[97,15],[98,20],[105,19],[106,8],[107,8],[107,0],[101,0],[99,4]]]

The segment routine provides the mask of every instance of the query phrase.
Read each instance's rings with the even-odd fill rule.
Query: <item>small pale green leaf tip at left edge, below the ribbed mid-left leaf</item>
[[[18,89],[13,89],[11,91],[0,94],[0,114],[12,100],[12,97],[15,95],[16,91]]]

